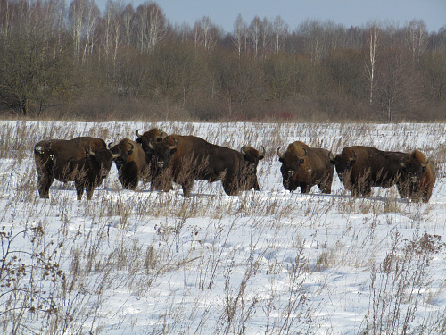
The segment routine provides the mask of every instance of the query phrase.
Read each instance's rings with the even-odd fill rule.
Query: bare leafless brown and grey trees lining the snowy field
[[[446,25],[239,15],[153,2],[0,0],[0,114],[58,120],[445,121]]]

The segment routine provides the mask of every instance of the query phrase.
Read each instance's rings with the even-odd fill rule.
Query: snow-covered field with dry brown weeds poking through
[[[37,194],[45,138],[135,139],[153,127],[267,149],[260,192],[219,182],[123,190],[113,164],[93,200],[72,183]],[[141,132],[142,132],[141,131]],[[0,328],[52,334],[441,334],[446,331],[446,125],[0,121]],[[367,145],[436,164],[428,204],[396,188],[353,198],[282,186],[294,140]],[[20,251],[20,252],[18,252]]]

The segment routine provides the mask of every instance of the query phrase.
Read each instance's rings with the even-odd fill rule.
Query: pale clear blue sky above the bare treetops
[[[149,0],[121,0],[138,4]],[[95,0],[103,11],[107,0]],[[446,0],[157,0],[166,18],[173,25],[190,26],[203,16],[212,23],[232,32],[238,14],[248,24],[255,15],[274,21],[280,16],[293,31],[306,19],[351,26],[365,26],[370,21],[392,22],[403,26],[409,21],[423,20],[428,31],[446,26]]]

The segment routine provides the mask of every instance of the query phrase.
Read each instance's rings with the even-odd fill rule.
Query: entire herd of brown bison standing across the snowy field
[[[136,141],[124,138],[115,146],[105,145],[101,138],[79,137],[70,140],[43,140],[34,147],[37,166],[37,188],[41,198],[49,197],[54,179],[74,181],[78,200],[84,189],[91,199],[116,164],[123,188],[135,189],[139,180],[150,182],[151,190],[169,191],[172,182],[190,197],[194,180],[221,180],[229,196],[239,191],[260,190],[257,165],[265,155],[243,146],[239,151],[211,144],[195,136],[168,135],[152,129],[143,134],[136,130]],[[435,182],[434,163],[423,153],[381,151],[375,147],[344,147],[334,155],[324,148],[309,147],[301,141],[288,145],[285,152],[277,148],[282,163],[283,185],[293,191],[310,192],[318,185],[331,193],[335,170],[351,195],[369,196],[372,187],[396,185],[401,197],[429,201]]]

